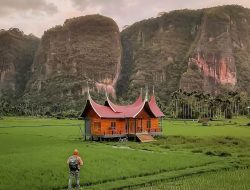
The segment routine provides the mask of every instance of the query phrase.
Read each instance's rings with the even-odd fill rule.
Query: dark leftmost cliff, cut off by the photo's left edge
[[[0,31],[0,97],[23,95],[38,43],[17,28]]]

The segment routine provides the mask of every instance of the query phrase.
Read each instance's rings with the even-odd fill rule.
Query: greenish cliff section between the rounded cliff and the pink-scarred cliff
[[[154,85],[163,100],[179,88],[202,11],[173,11],[135,23],[121,33],[123,57],[119,95]],[[125,95],[126,96],[126,95]]]

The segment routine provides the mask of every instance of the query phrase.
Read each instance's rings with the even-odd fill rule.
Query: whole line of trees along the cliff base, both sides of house
[[[96,99],[100,99],[96,97]],[[232,118],[239,115],[249,115],[250,97],[246,93],[227,92],[212,96],[204,92],[186,92],[181,89],[173,92],[169,102],[161,102],[156,97],[157,103],[167,117],[180,119]],[[119,103],[128,104],[118,99]],[[84,103],[83,103],[84,104]],[[83,105],[82,104],[82,105]],[[84,105],[83,105],[84,106]],[[0,116],[49,116],[49,117],[79,117],[81,109],[75,109],[75,105],[65,102],[49,103],[46,105],[32,103],[30,101],[11,101],[8,98],[0,98]]]

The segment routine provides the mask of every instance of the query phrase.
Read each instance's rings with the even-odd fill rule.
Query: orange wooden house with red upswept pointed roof
[[[119,137],[156,136],[162,133],[161,112],[154,94],[148,100],[142,94],[131,105],[116,105],[106,96],[104,105],[92,100],[89,92],[81,114],[85,121],[85,139],[102,140]]]

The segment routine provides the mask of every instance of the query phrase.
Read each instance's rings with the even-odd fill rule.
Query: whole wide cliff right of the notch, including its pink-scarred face
[[[145,84],[164,101],[178,88],[249,93],[249,24],[249,9],[222,6],[173,11],[129,26],[121,33],[119,95]]]

